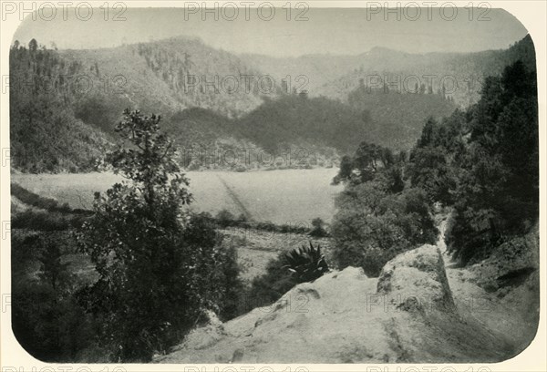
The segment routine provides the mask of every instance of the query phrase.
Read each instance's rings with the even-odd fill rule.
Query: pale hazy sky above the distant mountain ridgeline
[[[470,52],[506,48],[527,34],[514,16],[499,9],[486,15],[478,9],[470,15],[464,8],[457,8],[455,14],[454,9],[441,13],[439,8],[421,8],[419,14],[417,9],[399,9],[397,14],[382,9],[373,13],[355,8],[311,8],[303,15],[304,10],[293,9],[289,15],[283,8],[274,9],[274,14],[267,7],[260,14],[256,8],[240,8],[236,15],[228,7],[210,13],[191,8],[110,8],[107,14],[98,8],[92,12],[81,8],[79,13],[59,8],[54,14],[44,8],[36,12],[35,19],[26,17],[14,40],[28,43],[35,37],[46,47],[53,41],[59,48],[98,48],[185,35],[199,36],[212,47],[235,53],[287,57],[356,55],[371,47],[410,53]],[[297,16],[307,20],[296,20]],[[125,20],[116,21],[115,17]]]

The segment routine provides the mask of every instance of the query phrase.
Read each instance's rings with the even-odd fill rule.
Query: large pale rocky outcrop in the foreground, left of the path
[[[214,317],[212,317],[214,319]],[[159,363],[487,362],[504,342],[459,317],[441,254],[424,245],[381,276],[348,267],[300,284],[276,304],[195,329]]]

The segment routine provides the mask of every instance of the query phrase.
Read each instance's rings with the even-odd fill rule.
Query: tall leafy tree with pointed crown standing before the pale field
[[[238,269],[212,222],[182,210],[189,181],[160,117],[126,110],[116,131],[129,145],[107,160],[129,181],[96,193],[78,233],[99,274],[82,301],[102,319],[113,360],[148,361],[205,320],[204,309],[222,312]]]

